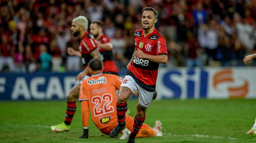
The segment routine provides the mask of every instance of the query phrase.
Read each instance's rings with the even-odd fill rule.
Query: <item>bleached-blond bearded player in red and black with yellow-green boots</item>
[[[77,81],[80,79],[80,83],[76,84],[69,92],[67,96],[67,110],[65,114],[65,122],[62,122],[61,124],[51,126],[51,129],[55,132],[60,132],[60,131],[68,131],[70,129],[70,123],[73,119],[73,115],[76,110],[76,100],[79,97],[79,92],[80,92],[80,85],[82,83],[82,80],[85,80],[86,78],[89,77],[88,75],[88,67],[87,64],[88,62],[95,58],[99,59],[100,58],[100,53],[97,49],[97,43],[94,39],[94,36],[89,34],[88,31],[88,20],[84,16],[78,16],[72,20],[72,26],[71,26],[71,31],[74,37],[79,37],[81,38],[79,50],[76,51],[73,48],[68,48],[68,54],[69,55],[76,55],[80,56],[82,58],[82,64],[84,66],[84,70],[80,72],[75,80]],[[88,129],[84,129],[85,131]]]

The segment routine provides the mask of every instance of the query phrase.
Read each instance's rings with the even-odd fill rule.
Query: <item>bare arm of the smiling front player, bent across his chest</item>
[[[140,49],[137,49],[137,51],[134,52],[133,56],[134,58],[148,59],[148,60],[158,62],[158,63],[163,63],[163,64],[166,64],[168,60],[167,55],[149,55],[149,54],[145,54]]]

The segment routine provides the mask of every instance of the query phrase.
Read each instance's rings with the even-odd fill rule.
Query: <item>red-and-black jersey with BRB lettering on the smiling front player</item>
[[[144,37],[143,29],[134,32],[135,50],[140,49],[149,55],[167,55],[165,38],[156,30]],[[147,59],[136,58],[128,67],[126,75],[130,75],[143,89],[155,91],[157,69],[159,63]]]

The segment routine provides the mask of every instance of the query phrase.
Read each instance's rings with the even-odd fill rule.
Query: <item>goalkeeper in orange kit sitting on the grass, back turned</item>
[[[79,101],[81,102],[84,133],[80,138],[88,138],[89,109],[94,124],[100,131],[109,135],[118,124],[116,118],[116,90],[119,90],[123,79],[117,75],[102,74],[100,60],[92,59],[88,63],[91,77],[81,84]],[[126,110],[126,109],[124,109]],[[126,129],[120,139],[127,139],[133,128],[134,118],[126,115]],[[154,128],[143,124],[136,138],[162,136],[161,122],[156,121]]]

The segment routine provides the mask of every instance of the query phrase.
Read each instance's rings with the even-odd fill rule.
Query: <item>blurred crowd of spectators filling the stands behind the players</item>
[[[166,67],[242,66],[256,51],[256,0],[1,0],[0,71],[82,70],[72,19],[101,20],[119,69],[134,51],[141,10],[158,11],[157,30],[166,38]],[[255,65],[254,62],[251,65]]]

